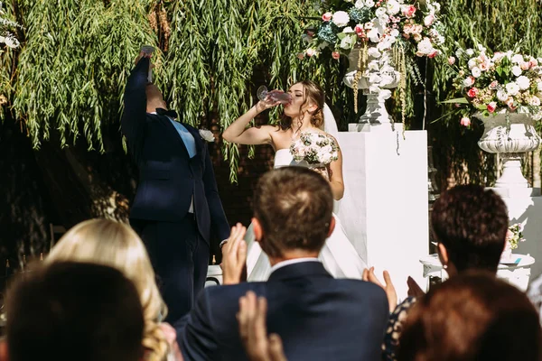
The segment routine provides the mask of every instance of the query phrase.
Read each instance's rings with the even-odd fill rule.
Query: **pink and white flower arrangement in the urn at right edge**
[[[447,103],[467,104],[467,112],[479,111],[484,116],[520,112],[542,117],[542,58],[515,51],[491,53],[481,45],[460,48],[454,55],[448,64],[456,73],[453,87],[463,97]]]

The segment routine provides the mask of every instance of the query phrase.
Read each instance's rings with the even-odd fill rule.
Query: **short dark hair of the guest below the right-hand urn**
[[[431,226],[459,272],[497,272],[509,227],[508,210],[493,190],[461,185],[435,201]]]

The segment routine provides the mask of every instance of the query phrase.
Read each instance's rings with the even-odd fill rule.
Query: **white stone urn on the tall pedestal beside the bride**
[[[386,63],[390,65],[391,62],[391,51],[384,51],[380,58],[374,58],[369,55],[368,63],[371,60],[378,59],[381,64]],[[360,59],[360,48],[355,47],[350,51],[348,55],[349,60],[349,69],[347,70],[342,81],[350,88],[354,88],[354,77],[358,71],[358,62]],[[380,88],[397,88],[399,85],[399,80],[401,79],[401,73],[395,69],[388,71],[384,74],[380,74],[379,70],[370,70],[367,69],[365,74],[360,78],[358,82],[358,88],[363,90],[363,95],[367,96],[367,108],[365,113],[360,116],[359,123],[369,123],[371,125],[383,125],[393,123],[393,119],[388,114],[386,109],[386,99],[388,97],[378,96],[378,93],[369,91],[370,88],[370,76],[376,75],[378,78],[386,77],[388,81],[384,81],[384,85]],[[373,79],[375,77],[372,77]]]

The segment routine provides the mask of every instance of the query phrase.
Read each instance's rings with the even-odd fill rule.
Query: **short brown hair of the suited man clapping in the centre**
[[[332,188],[322,175],[304,167],[268,171],[257,182],[254,217],[260,222],[267,255],[286,250],[320,252],[330,229]]]

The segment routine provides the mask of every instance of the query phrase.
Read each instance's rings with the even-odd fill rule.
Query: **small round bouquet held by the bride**
[[[304,132],[292,145],[290,153],[295,162],[327,165],[339,159],[339,147],[334,139],[326,134]]]

